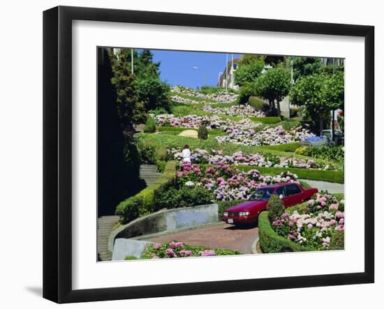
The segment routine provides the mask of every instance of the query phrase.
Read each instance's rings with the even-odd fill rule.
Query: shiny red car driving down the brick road
[[[256,190],[252,200],[226,209],[223,213],[223,221],[230,224],[256,222],[259,213],[267,209],[268,199],[272,194],[279,195],[284,206],[289,207],[311,199],[315,193],[318,193],[318,189],[304,189],[300,184],[292,182],[264,186]]]

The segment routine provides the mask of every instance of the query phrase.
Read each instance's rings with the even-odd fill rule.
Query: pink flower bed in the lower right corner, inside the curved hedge
[[[344,230],[344,199],[339,202],[328,193],[318,193],[300,211],[283,213],[272,228],[300,246],[327,250],[332,235]]]

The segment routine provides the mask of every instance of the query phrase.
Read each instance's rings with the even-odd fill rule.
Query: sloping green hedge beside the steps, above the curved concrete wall
[[[122,223],[128,223],[154,212],[156,192],[167,190],[172,186],[175,181],[176,166],[175,161],[169,161],[164,167],[163,174],[152,185],[117,205],[116,214],[121,216]]]

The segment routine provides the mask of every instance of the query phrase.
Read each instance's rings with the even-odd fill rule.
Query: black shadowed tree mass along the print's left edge
[[[98,48],[98,216],[115,214],[116,205],[145,187],[139,178],[140,156],[135,144],[124,138],[115,104],[117,94],[106,48]]]

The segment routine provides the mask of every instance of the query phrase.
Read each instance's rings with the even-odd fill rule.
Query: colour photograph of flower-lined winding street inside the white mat
[[[344,64],[98,46],[97,261],[344,250]]]

